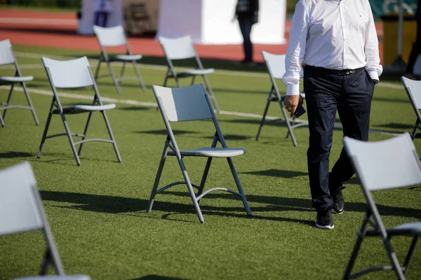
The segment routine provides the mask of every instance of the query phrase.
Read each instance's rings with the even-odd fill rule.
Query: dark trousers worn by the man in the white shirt
[[[305,66],[304,90],[310,132],[307,164],[312,203],[317,211],[326,211],[333,205],[330,193],[354,175],[354,168],[342,148],[329,179],[329,155],[336,112],[342,122],[344,136],[368,141],[374,82],[363,68],[343,75],[340,71]]]

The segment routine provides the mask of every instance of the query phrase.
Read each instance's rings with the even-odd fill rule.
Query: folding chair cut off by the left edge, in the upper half
[[[9,91],[7,101],[0,102],[0,105],[1,105],[0,111],[4,111],[3,116],[1,116],[1,113],[0,113],[1,126],[4,127],[4,118],[6,118],[7,109],[13,109],[13,108],[31,110],[32,116],[34,117],[36,125],[39,125],[38,118],[36,118],[34,106],[32,105],[31,98],[29,97],[29,94],[27,92],[27,87],[25,84],[25,82],[29,82],[29,80],[33,80],[34,77],[22,76],[22,73],[20,73],[18,62],[16,61],[15,55],[13,54],[11,41],[9,41],[8,39],[0,41],[0,65],[12,64],[12,63],[15,64],[15,76],[0,76],[0,85],[11,85],[11,90]],[[15,86],[15,83],[20,83],[20,85],[22,85],[23,92],[25,93],[25,97],[27,99],[29,106],[10,105],[13,87]]]

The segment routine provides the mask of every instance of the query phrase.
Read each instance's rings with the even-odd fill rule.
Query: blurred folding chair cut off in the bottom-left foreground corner
[[[42,230],[46,240],[46,252],[39,275],[45,275],[49,265],[53,266],[55,274],[58,275],[20,279],[89,280],[86,275],[65,275],[29,162],[21,162],[0,170],[0,181],[0,235]]]

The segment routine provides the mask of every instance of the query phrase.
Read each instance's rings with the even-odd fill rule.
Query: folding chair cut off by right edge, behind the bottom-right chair
[[[405,87],[406,93],[408,94],[410,104],[413,106],[415,111],[415,116],[417,116],[413,132],[410,134],[410,137],[412,139],[421,138],[421,132],[417,132],[418,130],[421,130],[421,80],[410,80],[405,77],[401,77],[401,80],[403,87]]]

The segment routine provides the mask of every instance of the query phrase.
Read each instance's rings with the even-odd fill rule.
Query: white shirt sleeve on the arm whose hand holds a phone
[[[290,27],[288,50],[285,57],[285,74],[282,80],[286,84],[286,95],[300,94],[301,63],[304,60],[307,42],[309,13],[305,1],[295,6],[293,21]]]

